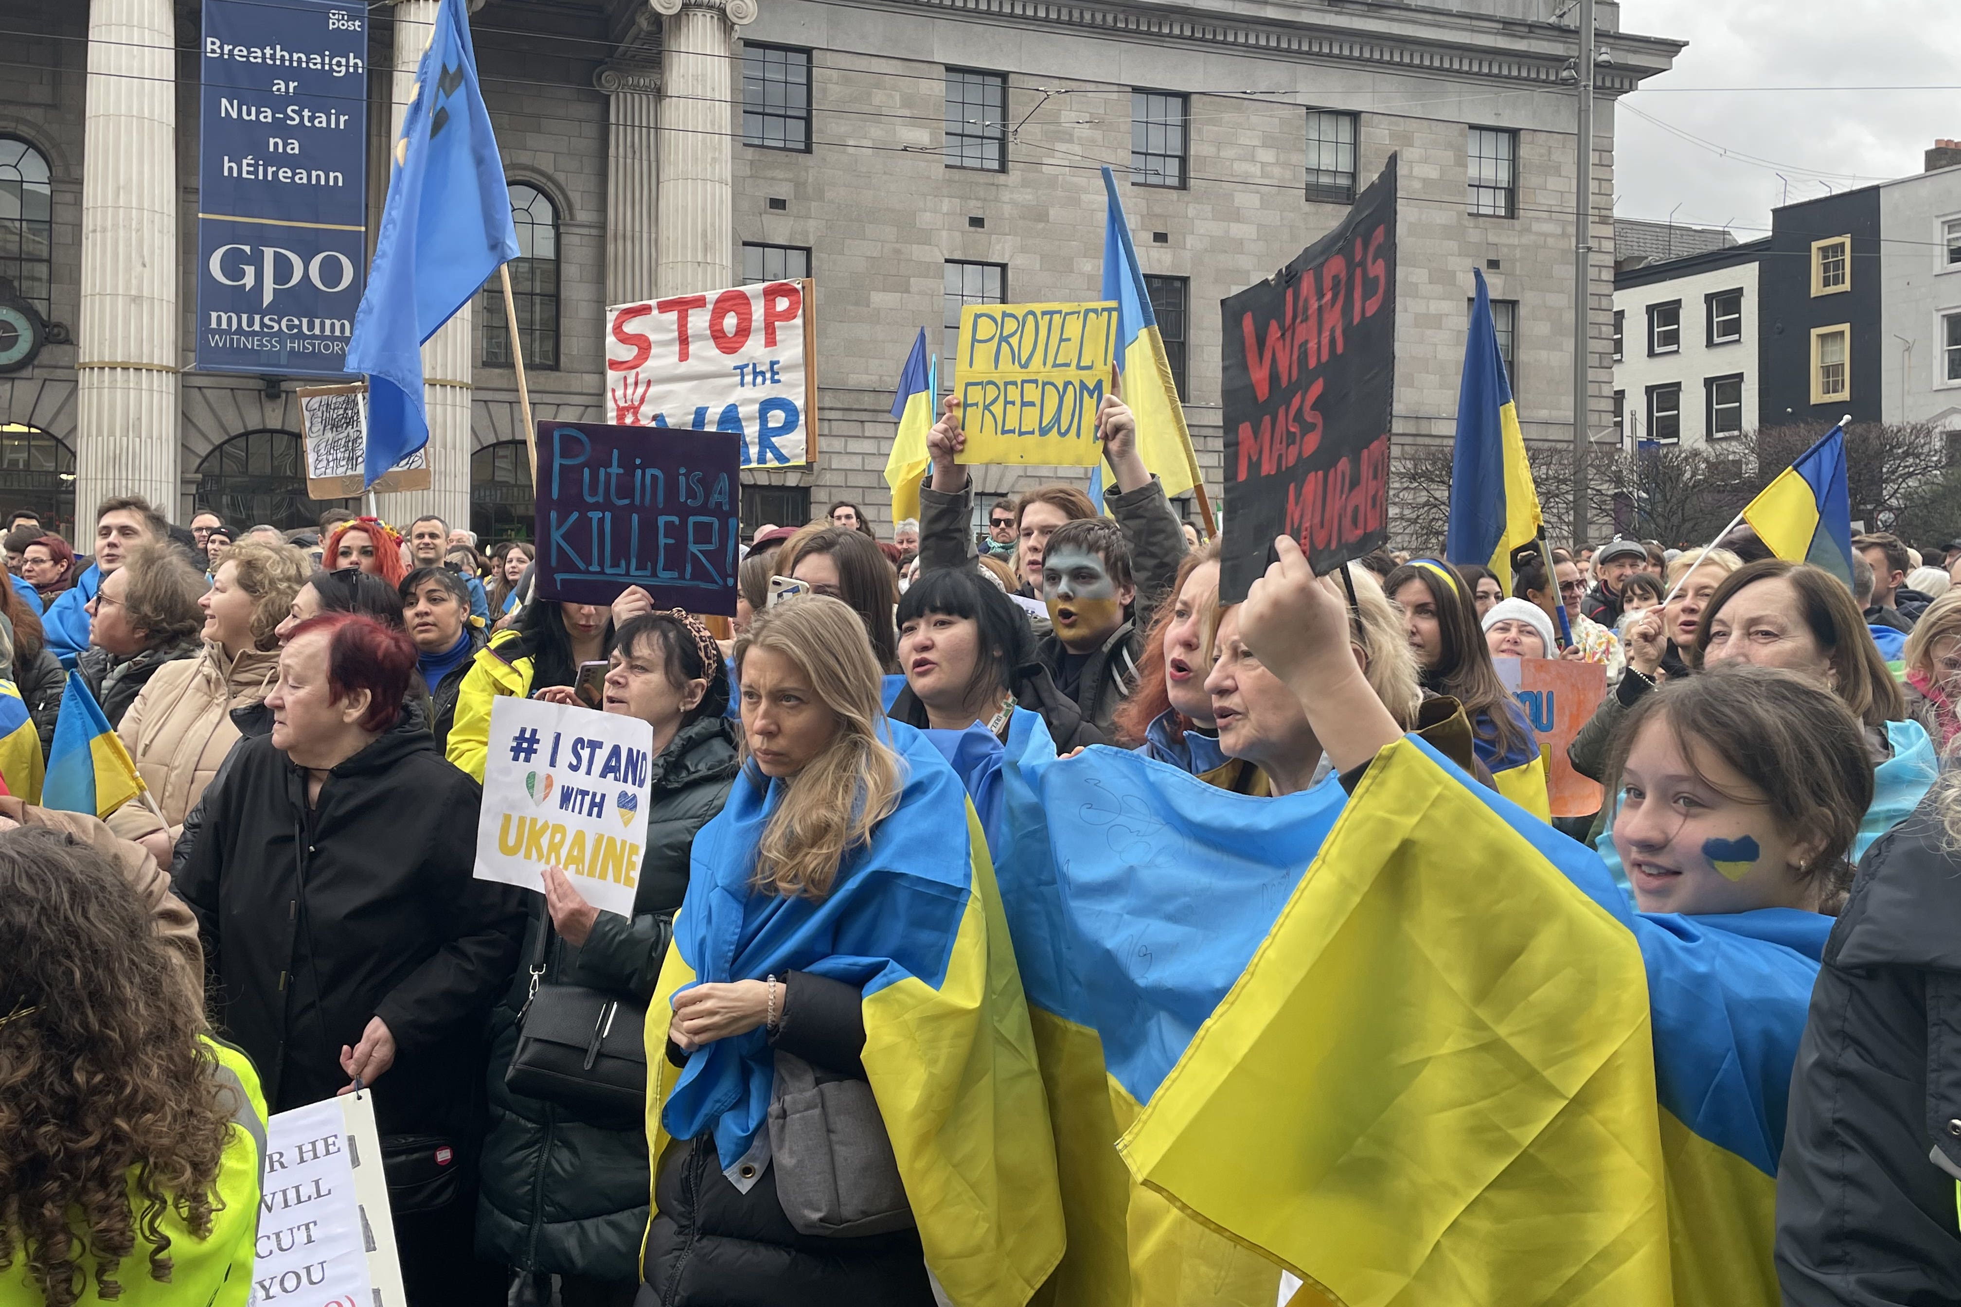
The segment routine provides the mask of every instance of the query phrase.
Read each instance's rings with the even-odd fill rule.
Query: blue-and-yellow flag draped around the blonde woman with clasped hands
[[[647,1137],[655,1168],[669,1138],[702,1133],[729,1166],[765,1131],[765,1033],[716,1041],[675,1068],[675,993],[698,980],[788,970],[857,986],[865,1074],[926,1268],[961,1307],[1024,1307],[1063,1256],[1063,1213],[1022,980],[967,792],[918,731],[888,729],[904,774],[900,805],[869,848],[847,856],[822,901],[751,894],[755,845],[780,798],[753,770],[694,837],[661,997],[647,1009]]]

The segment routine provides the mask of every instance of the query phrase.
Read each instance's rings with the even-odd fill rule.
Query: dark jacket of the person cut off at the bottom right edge
[[[1961,854],[1930,796],[1867,850],[1812,988],[1777,1172],[1785,1307],[1961,1303],[1957,1180]]]

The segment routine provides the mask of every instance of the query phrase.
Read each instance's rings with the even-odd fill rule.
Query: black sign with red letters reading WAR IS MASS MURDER
[[[1339,227],[1220,308],[1220,602],[1239,604],[1277,535],[1322,576],[1388,543],[1396,157]]]

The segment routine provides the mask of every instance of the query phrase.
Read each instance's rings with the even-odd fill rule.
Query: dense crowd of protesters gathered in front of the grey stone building
[[[1006,856],[1016,719],[1059,754],[1135,750],[1241,796],[1222,807],[1333,784],[1361,803],[1414,733],[1545,819],[1545,758],[1494,658],[1604,668],[1569,760],[1606,801],[1559,829],[1659,923],[1643,950],[1720,956],[1698,972],[1714,1001],[1751,1001],[1749,968],[1816,976],[1802,1046],[1763,1072],[1788,1086],[1788,1125],[1775,1086],[1759,1123],[1785,1301],[1961,1299],[1961,784],[1941,776],[1961,541],[1934,558],[1859,537],[1847,588],[1747,529],[1616,537],[1516,558],[1512,594],[1396,553],[1333,586],[1279,541],[1228,604],[1130,411],[1108,400],[1100,425],[1100,508],[1035,488],[977,533],[949,402],[920,519],[879,541],[841,502],[759,527],[726,627],[639,588],[533,598],[531,545],[480,555],[439,517],[176,527],[116,498],[78,553],[16,513],[12,690],[45,756],[76,672],[147,798],[98,819],[41,807],[39,772],[4,776],[0,1301],[235,1289],[267,1113],[355,1086],[416,1307],[961,1301],[880,1070],[945,1035],[894,1035],[873,993],[931,970],[890,921],[969,886],[949,854],[967,803]],[[631,915],[557,866],[541,894],[473,876],[498,698],[651,727]],[[559,990],[645,1027],[651,1103],[533,1074],[529,1017]],[[833,1138],[857,1121],[843,1211],[782,1156],[786,1074]]]

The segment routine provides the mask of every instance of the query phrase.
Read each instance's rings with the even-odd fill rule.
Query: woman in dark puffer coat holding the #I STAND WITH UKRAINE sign
[[[477,1205],[480,1256],[539,1276],[537,1301],[612,1307],[639,1289],[639,1240],[647,1231],[647,1135],[639,1113],[606,1119],[504,1086],[518,1048],[518,1013],[533,984],[606,990],[645,1007],[661,976],[675,911],[688,890],[694,833],[718,811],[735,778],[735,723],[722,651],[680,611],[643,613],[620,625],[606,672],[606,711],[653,727],[647,854],[633,917],[598,911],[547,868],[547,896],[533,899],[522,958],[537,958],[492,1015],[490,1137]],[[571,690],[541,700],[573,702]],[[545,917],[551,933],[547,937]]]

